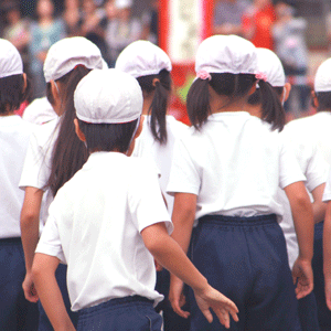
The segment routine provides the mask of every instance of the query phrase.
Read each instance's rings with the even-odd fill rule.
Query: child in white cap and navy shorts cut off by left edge
[[[38,308],[25,300],[22,289],[23,193],[18,188],[32,126],[14,115],[29,90],[18,50],[0,39],[0,330],[11,331],[38,328]]]

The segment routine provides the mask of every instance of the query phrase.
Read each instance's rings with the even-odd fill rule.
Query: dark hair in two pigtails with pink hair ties
[[[228,104],[224,105],[226,107],[238,98],[248,97],[249,89],[257,82],[252,74],[212,73],[211,77],[211,81],[197,78],[188,94],[188,114],[196,129],[200,129],[211,115],[209,86],[218,95],[229,98]],[[271,124],[273,130],[281,131],[285,126],[285,111],[279,97],[269,83],[258,81],[258,84],[261,93],[261,119]]]

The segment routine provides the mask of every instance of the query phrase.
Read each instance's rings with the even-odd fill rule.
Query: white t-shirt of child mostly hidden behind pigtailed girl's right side
[[[285,141],[291,145],[296,153],[301,171],[307,178],[306,188],[308,192],[323,184],[327,180],[329,166],[317,143],[310,137],[298,132],[297,126],[292,127],[290,124],[285,127],[280,135],[284,135]],[[281,189],[278,190],[278,201],[284,206],[284,218],[280,226],[286,238],[289,265],[292,268],[299,255],[299,247],[290,204]]]

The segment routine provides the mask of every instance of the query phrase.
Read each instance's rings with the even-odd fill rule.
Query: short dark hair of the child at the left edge
[[[22,74],[0,78],[0,114],[12,113],[31,95],[31,83]]]

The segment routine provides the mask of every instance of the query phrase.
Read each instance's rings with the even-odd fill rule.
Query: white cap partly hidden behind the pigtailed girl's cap
[[[268,49],[256,49],[258,71],[266,75],[274,87],[284,87],[285,73],[279,57]]]

